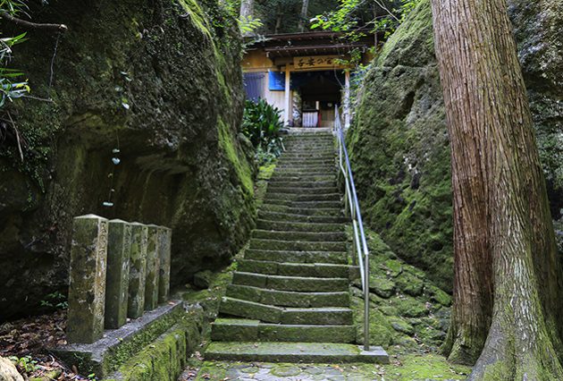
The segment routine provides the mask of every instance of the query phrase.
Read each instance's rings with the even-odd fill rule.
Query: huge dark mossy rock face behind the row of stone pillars
[[[171,226],[172,284],[246,241],[255,169],[239,137],[238,29],[221,4],[30,4],[34,21],[69,31],[29,33],[13,61],[53,102],[13,105],[23,162],[15,141],[0,149],[0,321],[64,292],[73,216]]]

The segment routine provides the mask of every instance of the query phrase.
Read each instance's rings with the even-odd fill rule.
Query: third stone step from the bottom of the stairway
[[[281,324],[349,326],[353,322],[352,310],[343,307],[281,308],[228,296],[223,297],[219,313]]]

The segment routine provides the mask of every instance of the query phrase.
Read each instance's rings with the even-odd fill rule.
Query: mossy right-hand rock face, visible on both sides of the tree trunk
[[[563,16],[555,1],[544,3],[539,10],[514,1],[510,13],[557,218],[563,202],[563,43],[557,30]],[[451,291],[450,149],[428,1],[417,5],[366,73],[349,144],[368,223],[400,258]]]

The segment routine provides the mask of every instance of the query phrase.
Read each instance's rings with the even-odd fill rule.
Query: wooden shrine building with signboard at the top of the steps
[[[247,97],[278,107],[293,127],[332,127],[334,106],[341,106],[348,127],[350,52],[357,49],[368,63],[374,36],[353,43],[341,37],[321,31],[255,38],[242,63]]]

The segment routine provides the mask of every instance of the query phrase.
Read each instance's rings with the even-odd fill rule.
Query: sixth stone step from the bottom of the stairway
[[[354,278],[355,267],[332,263],[293,263],[254,259],[239,259],[237,269],[245,273],[314,276],[319,278]]]

